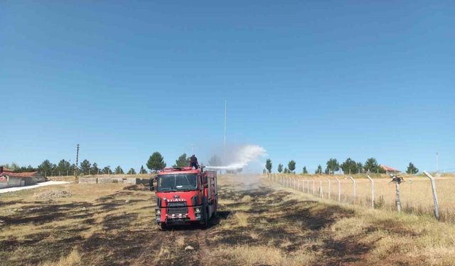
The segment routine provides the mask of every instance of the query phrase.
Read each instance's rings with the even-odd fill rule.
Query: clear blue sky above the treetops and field
[[[455,170],[454,1],[1,1],[0,163],[257,144]]]

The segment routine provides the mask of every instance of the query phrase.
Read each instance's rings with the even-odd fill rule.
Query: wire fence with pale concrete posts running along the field
[[[455,222],[455,175],[436,178],[428,173],[404,175],[404,179],[398,182],[365,174],[266,174],[265,177],[284,187],[343,204],[403,211]]]

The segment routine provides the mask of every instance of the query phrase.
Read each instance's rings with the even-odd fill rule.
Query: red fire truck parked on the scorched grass
[[[156,176],[155,214],[161,230],[189,223],[210,226],[218,204],[217,176],[201,168],[164,168]]]

